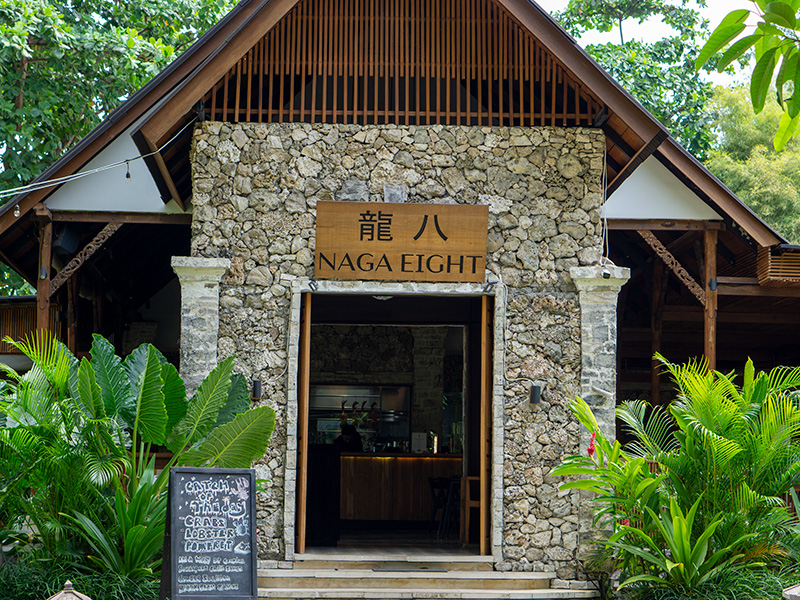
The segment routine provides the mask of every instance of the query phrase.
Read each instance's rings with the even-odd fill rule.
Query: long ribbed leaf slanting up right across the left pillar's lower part
[[[195,444],[208,435],[220,409],[228,399],[233,372],[233,357],[219,363],[197,388],[197,394],[189,401],[186,416],[172,429],[167,447],[178,453],[186,446]]]

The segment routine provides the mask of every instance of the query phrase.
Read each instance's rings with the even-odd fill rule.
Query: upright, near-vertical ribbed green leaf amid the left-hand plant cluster
[[[161,363],[158,360],[155,348],[149,345],[140,346],[140,348],[142,347],[145,348],[142,368],[139,369],[141,356],[137,356],[137,359],[131,363],[136,366],[136,369],[129,370],[129,373],[139,371],[136,382],[132,382],[136,394],[133,432],[135,436],[139,436],[144,442],[163,444],[167,424],[167,411],[164,408],[164,382],[161,379]],[[138,350],[139,348],[137,348]],[[127,366],[128,361],[126,360],[125,362]]]

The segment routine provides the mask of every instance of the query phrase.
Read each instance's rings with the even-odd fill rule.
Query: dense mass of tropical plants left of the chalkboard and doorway
[[[14,343],[14,342],[12,342]],[[143,344],[124,360],[94,336],[80,362],[45,333],[15,342],[33,361],[6,367],[0,392],[0,541],[28,559],[67,559],[137,578],[159,569],[169,467],[249,467],[263,456],[271,408],[249,408],[223,360],[189,400],[177,370]],[[151,450],[173,454],[155,472]]]

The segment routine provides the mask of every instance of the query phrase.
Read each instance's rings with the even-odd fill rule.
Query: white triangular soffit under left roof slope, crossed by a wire
[[[139,156],[141,152],[125,131],[95,156],[79,172],[91,171]],[[125,165],[87,175],[65,183],[45,204],[50,210],[120,211],[143,213],[180,213],[174,201],[164,204],[143,159],[130,162],[131,179],[125,179]]]

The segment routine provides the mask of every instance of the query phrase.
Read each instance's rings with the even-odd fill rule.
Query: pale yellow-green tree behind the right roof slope
[[[780,107],[754,114],[745,88],[717,88],[710,111],[716,141],[706,166],[767,223],[800,242],[800,147],[773,149]]]

